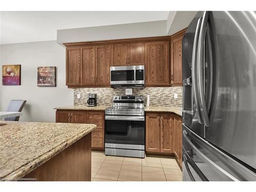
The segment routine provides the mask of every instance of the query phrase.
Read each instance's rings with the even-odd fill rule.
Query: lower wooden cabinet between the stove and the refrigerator
[[[182,165],[182,118],[172,113],[146,113],[146,152],[175,154]]]

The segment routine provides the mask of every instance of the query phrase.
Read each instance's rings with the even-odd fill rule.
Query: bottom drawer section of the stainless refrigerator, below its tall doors
[[[184,181],[256,181],[256,174],[183,124]]]

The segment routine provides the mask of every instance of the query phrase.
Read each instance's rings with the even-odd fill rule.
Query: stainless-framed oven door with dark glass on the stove
[[[144,150],[144,116],[105,116],[105,147]]]

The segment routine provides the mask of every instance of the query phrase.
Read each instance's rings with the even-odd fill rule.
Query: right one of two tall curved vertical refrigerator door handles
[[[203,66],[204,66],[204,39],[208,24],[209,11],[205,11],[202,19],[202,25],[200,28],[199,38],[198,38],[198,52],[197,52],[197,77],[198,77],[198,90],[199,90],[199,111],[202,114],[203,123],[209,126],[209,116],[206,108],[206,102],[204,97],[204,76],[203,76]]]

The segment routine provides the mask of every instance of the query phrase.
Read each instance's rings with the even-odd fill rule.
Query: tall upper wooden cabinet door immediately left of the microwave
[[[111,46],[95,47],[96,84],[110,85]]]

